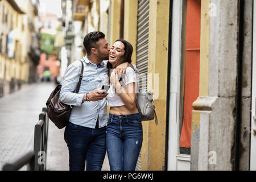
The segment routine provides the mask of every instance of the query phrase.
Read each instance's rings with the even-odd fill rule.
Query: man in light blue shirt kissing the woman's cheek
[[[106,154],[105,138],[108,115],[106,96],[101,86],[108,85],[110,46],[102,32],[90,32],[84,38],[87,55],[81,59],[84,73],[79,93],[75,93],[82,64],[75,61],[65,72],[60,92],[60,101],[72,105],[69,123],[65,128],[64,139],[69,150],[69,170],[100,171]],[[130,65],[131,66],[131,65]],[[116,69],[125,73],[127,63]]]

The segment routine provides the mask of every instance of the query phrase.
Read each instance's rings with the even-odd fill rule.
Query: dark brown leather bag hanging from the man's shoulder
[[[81,61],[81,60],[80,60]],[[81,61],[82,63],[82,61]],[[82,81],[82,73],[84,72],[84,64],[82,63],[81,73],[79,75],[79,82],[77,84],[76,93],[79,93],[81,81]],[[59,129],[63,129],[68,124],[69,116],[71,114],[72,106],[64,104],[60,102],[60,90],[61,85],[57,85],[56,88],[52,91],[46,102],[46,112],[48,114],[49,119]]]

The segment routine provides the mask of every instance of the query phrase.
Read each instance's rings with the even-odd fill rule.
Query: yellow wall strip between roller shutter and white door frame
[[[150,1],[148,73],[152,74],[153,79],[152,82],[148,79],[148,90],[154,90],[154,105],[159,122],[158,126],[155,126],[154,121],[149,122],[148,169],[150,170],[164,170],[165,162],[169,11],[170,1]],[[154,76],[154,74],[159,75]],[[159,76],[158,82],[155,82],[154,78],[157,76]]]

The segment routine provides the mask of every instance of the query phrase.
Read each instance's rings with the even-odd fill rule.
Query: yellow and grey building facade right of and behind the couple
[[[159,125],[142,123],[137,170],[256,169],[253,2],[73,1],[80,39],[128,40],[154,92]]]

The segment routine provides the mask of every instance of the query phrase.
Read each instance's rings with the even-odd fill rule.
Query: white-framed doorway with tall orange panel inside
[[[199,96],[201,0],[175,0],[172,7],[168,170],[189,171],[192,104]]]

